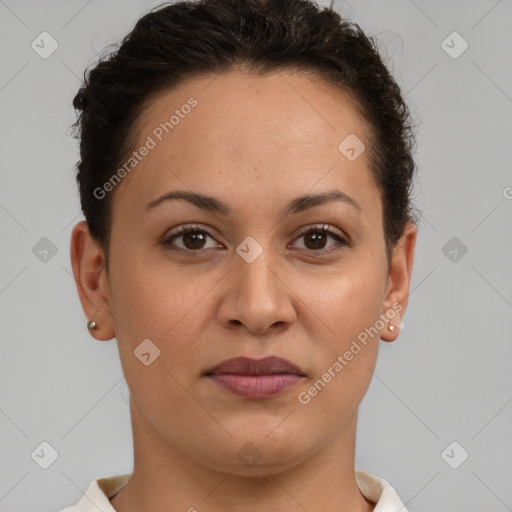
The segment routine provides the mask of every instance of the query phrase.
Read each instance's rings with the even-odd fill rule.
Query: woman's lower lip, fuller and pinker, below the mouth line
[[[209,376],[221,388],[246,398],[267,398],[295,386],[302,377],[283,373],[273,375],[239,375],[216,373]]]

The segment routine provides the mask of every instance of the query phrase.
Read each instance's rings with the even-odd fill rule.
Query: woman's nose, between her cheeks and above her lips
[[[230,329],[244,326],[258,335],[291,325],[296,319],[293,303],[297,298],[271,249],[265,248],[252,263],[237,253],[233,260],[218,313],[221,324]]]

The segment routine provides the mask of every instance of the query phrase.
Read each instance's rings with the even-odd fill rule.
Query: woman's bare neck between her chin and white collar
[[[356,424],[357,414],[323,449],[284,470],[240,476],[196,462],[132,410],[133,474],[111,503],[118,512],[371,512],[355,478]]]

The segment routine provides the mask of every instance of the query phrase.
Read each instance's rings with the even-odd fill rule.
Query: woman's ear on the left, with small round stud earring
[[[71,266],[82,309],[98,326],[91,336],[106,341],[115,336],[110,315],[109,289],[105,270],[105,255],[92,237],[86,221],[79,222],[71,233]]]

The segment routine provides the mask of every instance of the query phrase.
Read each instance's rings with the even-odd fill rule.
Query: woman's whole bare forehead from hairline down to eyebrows
[[[133,205],[144,197],[147,203],[173,188],[220,197],[244,197],[249,189],[254,197],[260,190],[269,200],[283,190],[304,194],[319,182],[368,188],[366,151],[350,161],[339,149],[354,135],[368,143],[368,126],[352,98],[312,75],[200,75],[147,102],[136,146],[151,139],[153,148],[114,200]]]

